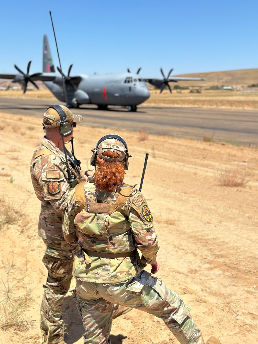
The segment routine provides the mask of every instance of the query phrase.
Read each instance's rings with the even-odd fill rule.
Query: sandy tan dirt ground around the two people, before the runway
[[[0,342],[38,344],[42,343],[39,310],[46,269],[41,261],[44,245],[37,236],[40,201],[32,188],[29,164],[41,142],[42,120],[0,116],[0,323],[4,328]],[[88,169],[90,150],[110,131],[86,124],[76,127],[75,152],[83,170]],[[217,335],[222,344],[255,343],[257,149],[116,132],[125,138],[132,155],[126,183],[139,187],[144,156],[150,154],[142,192],[160,244],[156,276],[182,295],[204,338]],[[221,186],[226,171],[233,171],[244,185]],[[6,302],[8,310],[3,307]],[[66,343],[82,344],[84,331],[70,293],[63,311]],[[4,315],[9,317],[6,327]],[[110,338],[112,344],[177,343],[161,320],[137,310],[113,321]]]

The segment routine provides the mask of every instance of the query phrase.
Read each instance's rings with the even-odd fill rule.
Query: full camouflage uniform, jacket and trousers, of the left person
[[[35,154],[47,148],[55,155]],[[72,265],[77,245],[66,243],[62,232],[62,211],[68,193],[64,153],[49,140],[43,138],[31,160],[31,179],[37,198],[41,201],[39,235],[46,251],[42,259],[47,272],[41,304],[41,329],[45,340],[60,342],[63,331],[62,304],[72,279]],[[75,173],[75,171],[73,171]],[[78,176],[79,178],[79,176]]]

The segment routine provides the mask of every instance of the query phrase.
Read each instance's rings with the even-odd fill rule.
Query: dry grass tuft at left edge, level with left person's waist
[[[8,225],[14,225],[21,220],[22,214],[19,207],[12,203],[0,200],[0,230]]]

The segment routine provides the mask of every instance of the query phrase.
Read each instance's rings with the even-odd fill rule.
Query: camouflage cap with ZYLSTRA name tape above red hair
[[[119,156],[118,158],[105,157],[103,153],[106,151],[116,152]],[[122,161],[125,159],[126,153],[127,147],[125,146],[125,144],[123,144],[123,142],[116,138],[106,138],[101,141],[97,147],[98,157],[106,161]]]

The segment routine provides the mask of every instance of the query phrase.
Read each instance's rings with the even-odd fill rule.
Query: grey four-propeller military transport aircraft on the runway
[[[39,89],[35,81],[41,80],[58,100],[65,102],[61,70],[57,67],[60,75],[55,73],[47,35],[44,35],[43,39],[43,73],[30,75],[30,65],[31,61],[28,63],[27,73],[22,72],[20,68],[14,65],[19,74],[0,74],[0,79],[13,79],[13,82],[23,84],[23,93],[26,92],[28,82],[31,82]],[[203,78],[169,77],[169,75],[165,78],[162,69],[161,73],[164,79],[143,79],[138,75],[140,68],[136,74],[130,73],[128,69],[128,73],[123,74],[70,76],[72,66],[72,64],[69,66],[67,75],[63,75],[69,107],[78,107],[82,104],[96,104],[99,109],[106,110],[108,105],[119,105],[127,107],[128,111],[136,111],[137,105],[143,103],[150,97],[150,92],[145,80],[161,88],[160,92],[162,92],[165,86],[168,86],[171,92],[171,88],[168,84],[170,81],[205,80]]]

